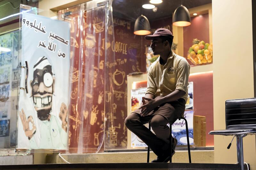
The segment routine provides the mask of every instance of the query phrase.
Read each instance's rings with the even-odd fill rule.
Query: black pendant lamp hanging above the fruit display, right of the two
[[[172,25],[174,26],[189,26],[191,24],[190,15],[188,8],[183,5],[180,5],[174,11]]]

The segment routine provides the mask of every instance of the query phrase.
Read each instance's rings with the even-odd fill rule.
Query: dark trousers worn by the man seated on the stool
[[[127,116],[125,125],[147,144],[157,156],[161,156],[169,148],[170,143],[170,129],[167,124],[172,125],[184,113],[185,103],[183,99],[165,103],[145,117],[140,116],[139,109],[135,110]],[[148,122],[150,122],[156,135],[144,126]]]

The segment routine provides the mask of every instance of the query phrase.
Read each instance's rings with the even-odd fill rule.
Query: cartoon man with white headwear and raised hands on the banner
[[[26,118],[25,112],[21,109],[20,119],[23,125],[25,135],[29,139],[30,147],[33,149],[65,149],[67,146],[67,106],[62,103],[59,117],[52,114],[52,98],[55,85],[52,65],[45,56],[39,57],[34,65],[33,80],[30,80],[31,98],[37,118],[42,121],[40,127],[36,127],[32,116]],[[32,123],[32,129],[29,128],[29,122]],[[39,126],[39,125],[37,125]],[[34,135],[40,131],[40,144],[36,144]]]

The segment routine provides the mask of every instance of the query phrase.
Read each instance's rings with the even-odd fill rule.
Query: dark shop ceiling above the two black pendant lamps
[[[212,3],[212,0],[163,0],[161,4],[154,4],[157,11],[153,12],[152,9],[141,7],[143,4],[150,4],[149,0],[113,0],[113,15],[131,21],[135,21],[141,14],[145,15],[149,21],[168,18],[181,5],[181,1],[182,5],[188,9]]]

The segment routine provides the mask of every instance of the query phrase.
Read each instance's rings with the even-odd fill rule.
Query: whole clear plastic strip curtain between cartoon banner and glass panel
[[[93,0],[69,8],[72,14],[64,17],[71,23],[69,153],[104,151],[109,7],[109,1]]]

